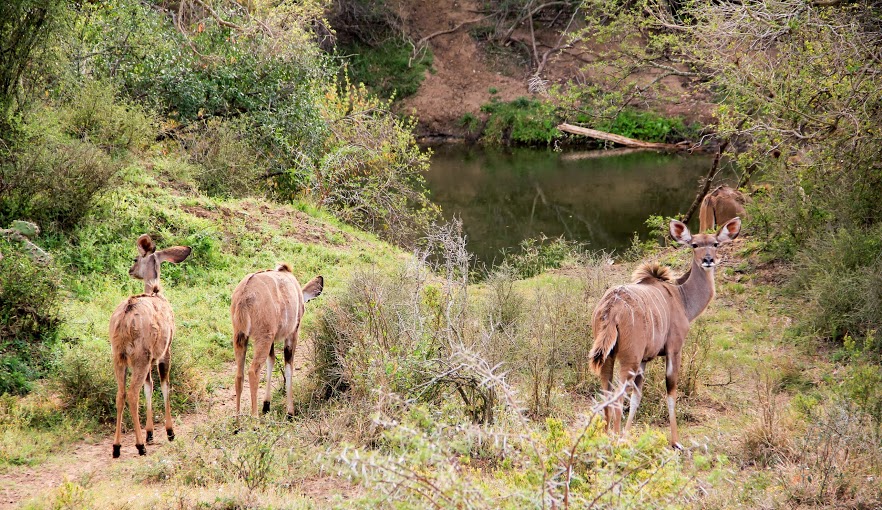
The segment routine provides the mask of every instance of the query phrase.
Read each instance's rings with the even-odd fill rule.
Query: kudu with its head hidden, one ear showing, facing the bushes
[[[245,351],[248,339],[254,339],[254,359],[248,369],[248,388],[251,391],[251,414],[257,416],[257,386],[260,371],[266,361],[266,393],[263,412],[269,411],[272,398],[275,342],[284,342],[285,356],[285,410],[294,414],[291,377],[294,373],[294,349],[300,321],[307,301],[322,293],[324,279],[316,276],[301,289],[291,272],[282,264],[274,270],[259,271],[246,276],[233,291],[230,315],[233,319],[233,347],[236,350],[236,414],[241,411],[242,384],[245,379]]]

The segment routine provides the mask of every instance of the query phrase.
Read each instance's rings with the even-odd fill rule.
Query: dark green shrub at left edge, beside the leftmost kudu
[[[58,340],[57,269],[0,237],[0,394],[26,393]]]

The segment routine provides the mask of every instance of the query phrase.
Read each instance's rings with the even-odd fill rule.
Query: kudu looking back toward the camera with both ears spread
[[[644,264],[634,272],[634,283],[606,291],[594,309],[594,347],[589,358],[607,394],[613,391],[613,365],[618,359],[619,380],[630,393],[627,432],[640,405],[646,363],[665,356],[671,445],[681,448],[674,412],[681,349],[689,324],[714,297],[717,247],[738,236],[741,219],[729,220],[716,234],[693,236],[676,220],[671,221],[670,230],[675,240],[692,247],[689,272],[673,281],[667,267]],[[607,427],[616,433],[621,431],[623,396],[604,409]]]

